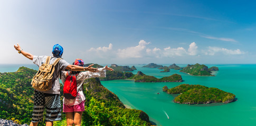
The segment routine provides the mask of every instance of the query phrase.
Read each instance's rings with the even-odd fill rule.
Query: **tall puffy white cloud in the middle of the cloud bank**
[[[135,47],[128,47],[126,49],[118,49],[118,57],[120,58],[142,58],[144,57],[144,51],[150,51],[146,49],[146,45],[150,43],[146,43],[144,40],[139,41],[139,45]]]

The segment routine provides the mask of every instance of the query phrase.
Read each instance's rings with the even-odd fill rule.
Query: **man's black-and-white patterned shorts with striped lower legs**
[[[61,100],[60,95],[34,92],[34,109],[32,114],[32,122],[41,122],[43,120],[43,112],[46,108],[45,121],[61,120]]]

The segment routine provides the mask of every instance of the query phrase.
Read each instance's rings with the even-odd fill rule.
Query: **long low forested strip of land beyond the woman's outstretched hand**
[[[182,82],[182,76],[178,74],[160,79],[154,76],[147,76],[141,71],[138,71],[136,75],[132,74],[132,72],[121,71],[107,71],[106,74],[106,77],[100,78],[100,80],[133,79],[135,82]]]

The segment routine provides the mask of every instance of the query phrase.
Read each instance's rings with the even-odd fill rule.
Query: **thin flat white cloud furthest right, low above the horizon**
[[[232,50],[220,47],[208,47],[208,50],[204,52],[205,55],[215,55],[216,53],[223,53],[225,55],[240,55],[245,54],[240,49]]]

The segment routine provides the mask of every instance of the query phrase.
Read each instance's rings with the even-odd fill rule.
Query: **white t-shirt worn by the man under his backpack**
[[[34,56],[33,57],[33,63],[36,64],[37,66],[41,66],[42,64],[45,63],[46,61],[46,58],[47,56]],[[53,62],[56,60],[57,58],[56,57],[51,57],[50,59],[50,63],[49,64],[53,64]],[[58,64],[56,64],[55,66],[55,70],[54,70],[54,73],[53,73],[53,79],[60,73],[60,71],[63,71],[67,68],[67,66],[70,65],[67,61],[65,61],[64,59],[61,59]],[[40,91],[40,90],[37,90],[37,91]],[[52,93],[52,94],[58,94],[60,95],[60,80],[59,80],[59,76],[56,77],[55,80],[53,80],[53,83],[52,83],[52,88],[48,91],[40,91],[40,92],[43,92],[43,93]]]

